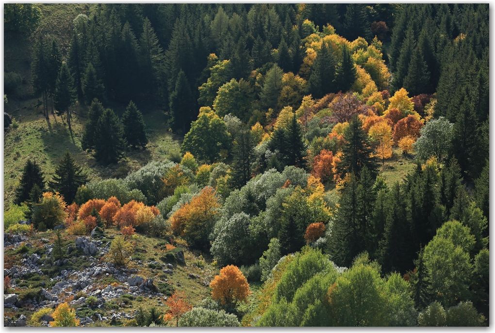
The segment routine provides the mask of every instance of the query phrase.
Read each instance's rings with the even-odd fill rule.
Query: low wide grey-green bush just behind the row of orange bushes
[[[90,199],[105,199],[116,197],[120,204],[124,205],[131,200],[146,202],[146,197],[138,189],[131,189],[124,179],[110,178],[105,180],[93,180],[85,186],[81,186],[76,193],[76,203],[81,205]]]

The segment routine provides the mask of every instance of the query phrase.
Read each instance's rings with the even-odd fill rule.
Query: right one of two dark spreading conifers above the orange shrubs
[[[66,203],[72,203],[77,189],[87,181],[88,176],[83,172],[83,168],[76,164],[67,149],[55,169],[53,179],[48,184],[64,197]]]

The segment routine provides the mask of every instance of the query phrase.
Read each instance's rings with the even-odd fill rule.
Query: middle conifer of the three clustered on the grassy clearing
[[[106,109],[98,120],[95,131],[95,158],[102,165],[116,163],[124,155],[125,140],[119,118]]]

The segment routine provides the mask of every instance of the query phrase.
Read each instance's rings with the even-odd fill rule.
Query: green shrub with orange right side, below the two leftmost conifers
[[[53,227],[63,223],[67,217],[66,206],[58,193],[43,193],[41,203],[35,204],[33,209],[34,226],[37,227],[43,222],[47,229],[53,229]]]

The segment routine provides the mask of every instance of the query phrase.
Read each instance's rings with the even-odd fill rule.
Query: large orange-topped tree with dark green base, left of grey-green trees
[[[208,249],[208,236],[220,213],[219,208],[221,204],[215,189],[206,186],[170,217],[172,230],[175,234],[185,237],[190,245]]]

